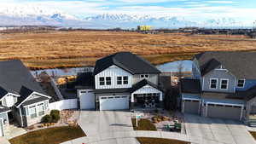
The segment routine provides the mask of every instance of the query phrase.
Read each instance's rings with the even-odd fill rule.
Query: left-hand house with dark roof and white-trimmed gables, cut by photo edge
[[[50,96],[20,60],[0,61],[0,136],[9,124],[27,127],[49,113]]]

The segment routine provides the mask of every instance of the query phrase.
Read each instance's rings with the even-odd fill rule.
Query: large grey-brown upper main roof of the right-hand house
[[[199,61],[201,72],[206,71],[206,67],[218,66],[219,62],[238,78],[256,78],[256,52],[204,52],[195,55],[195,58]],[[210,66],[205,66],[207,63]]]

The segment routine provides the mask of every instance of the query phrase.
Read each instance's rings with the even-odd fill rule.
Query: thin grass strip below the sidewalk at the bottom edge
[[[161,139],[161,138],[148,138],[148,137],[137,137],[137,141],[140,144],[190,144],[187,141],[177,141],[171,139]]]

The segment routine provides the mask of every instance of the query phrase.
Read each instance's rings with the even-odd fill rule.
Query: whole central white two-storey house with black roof
[[[108,55],[96,61],[94,72],[78,77],[80,108],[162,107],[164,95],[159,77],[160,71],[138,55],[130,52]]]

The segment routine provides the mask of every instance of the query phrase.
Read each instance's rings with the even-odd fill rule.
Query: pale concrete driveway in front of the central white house
[[[81,111],[79,125],[88,136],[116,131],[131,131],[131,112]]]

